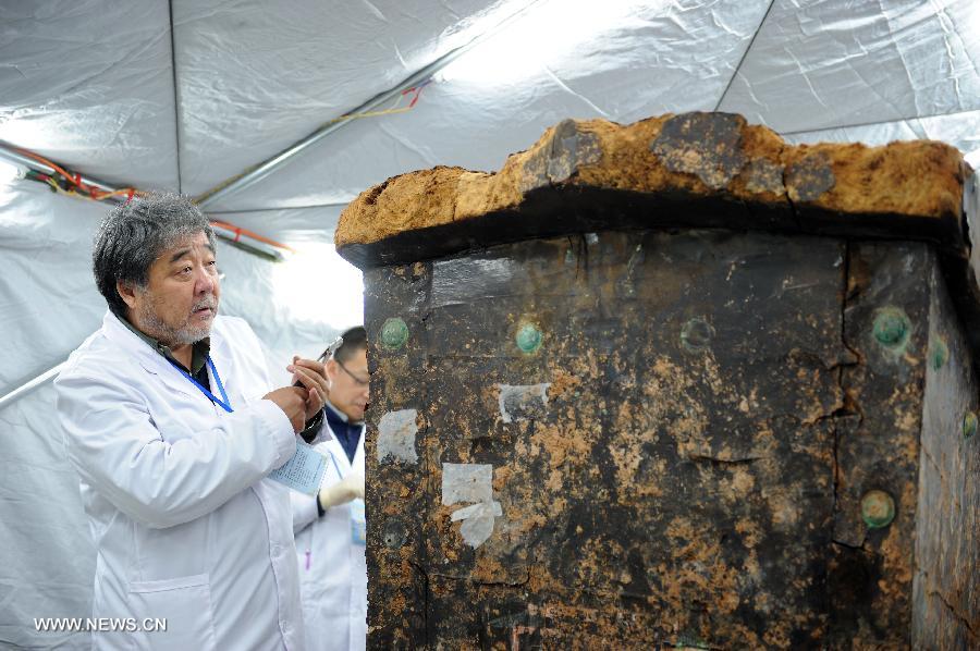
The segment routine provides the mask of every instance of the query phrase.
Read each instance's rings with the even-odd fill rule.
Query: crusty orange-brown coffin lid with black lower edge
[[[439,167],[389,179],[347,206],[335,242],[359,267],[506,242],[624,229],[719,228],[928,242],[980,364],[977,177],[958,150],[789,145],[732,113],[620,125],[565,120],[499,172]]]

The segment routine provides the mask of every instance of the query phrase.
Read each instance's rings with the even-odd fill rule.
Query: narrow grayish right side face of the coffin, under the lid
[[[980,649],[977,377],[942,275],[930,285],[912,646]]]

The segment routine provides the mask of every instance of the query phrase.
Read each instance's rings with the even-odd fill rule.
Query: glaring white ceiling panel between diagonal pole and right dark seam
[[[632,122],[713,109],[767,7],[759,0],[538,3],[437,75],[415,110],[353,122],[219,205],[344,204],[408,170],[499,169],[507,153],[564,118]]]

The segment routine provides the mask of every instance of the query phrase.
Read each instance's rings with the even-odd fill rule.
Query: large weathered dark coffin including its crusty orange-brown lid
[[[370,644],[980,647],[972,183],[693,113],[365,192]]]

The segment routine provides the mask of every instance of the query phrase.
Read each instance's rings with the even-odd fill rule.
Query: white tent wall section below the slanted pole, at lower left
[[[87,649],[87,635],[40,634],[35,617],[91,613],[95,549],[50,383],[0,409],[0,648]]]

